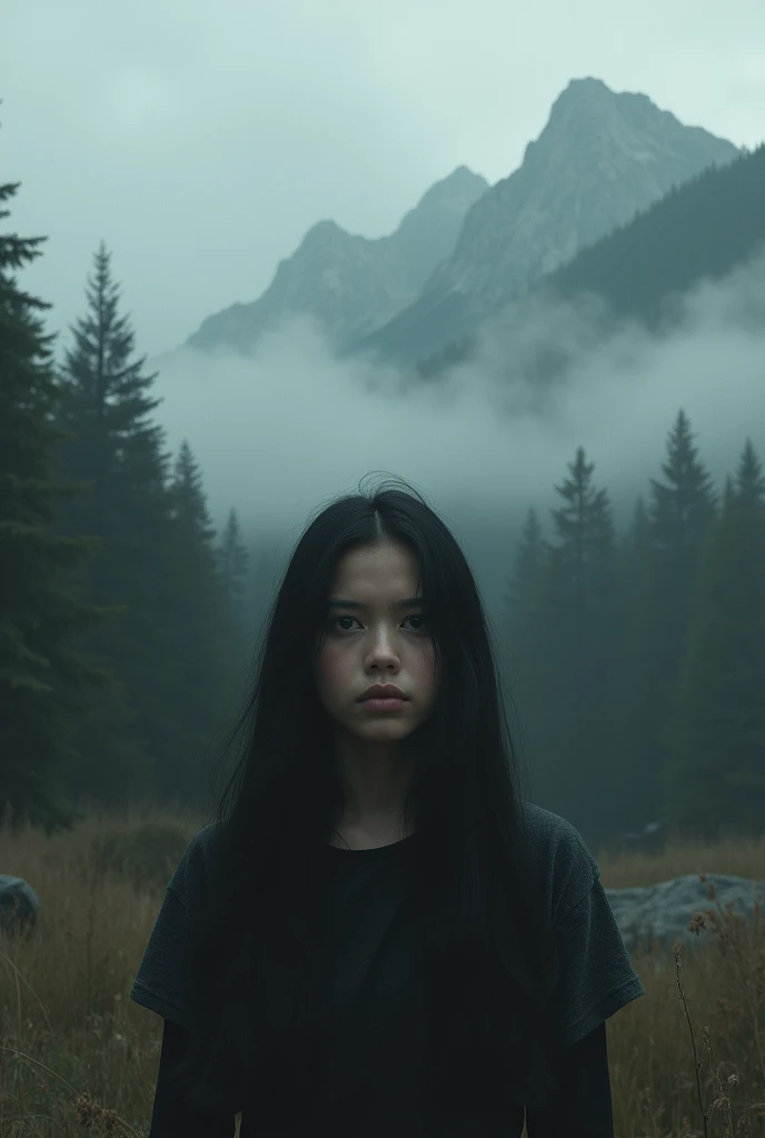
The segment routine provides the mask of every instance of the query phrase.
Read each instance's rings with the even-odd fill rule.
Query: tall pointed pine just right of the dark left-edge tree
[[[73,784],[79,795],[116,805],[153,795],[153,757],[167,743],[161,698],[166,681],[157,660],[172,635],[168,456],[164,431],[150,419],[161,402],[150,395],[156,376],[143,373],[146,357],[134,357],[134,333],[120,314],[104,242],[93,259],[87,312],[72,328],[60,370],[58,426],[67,440],[57,451],[61,476],[88,489],[63,511],[59,526],[100,539],[88,574],[76,582],[82,596],[121,607],[83,642],[83,651],[112,670],[113,683],[107,699],[82,710],[83,764]]]

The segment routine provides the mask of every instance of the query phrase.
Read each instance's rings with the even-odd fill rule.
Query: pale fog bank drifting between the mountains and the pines
[[[252,360],[189,348],[155,361],[155,418],[201,465],[220,528],[236,508],[248,542],[283,567],[313,511],[365,475],[403,477],[462,542],[492,615],[530,505],[552,538],[554,484],[578,446],[608,488],[617,533],[661,478],[678,410],[722,490],[747,437],[765,461],[765,255],[689,294],[663,339],[623,323],[599,339],[598,305],[527,302],[487,330],[477,358],[412,386],[393,366],[337,358],[301,319]],[[549,387],[525,378],[537,345],[571,354]]]

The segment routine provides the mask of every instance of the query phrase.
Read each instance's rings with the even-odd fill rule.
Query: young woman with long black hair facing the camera
[[[164,1017],[151,1138],[240,1111],[241,1138],[612,1136],[606,1020],[643,987],[578,832],[521,795],[478,588],[419,494],[309,525],[236,739],[131,992]]]

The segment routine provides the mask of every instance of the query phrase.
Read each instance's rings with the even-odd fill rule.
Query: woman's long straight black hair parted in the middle
[[[511,1102],[543,1106],[554,1090],[554,942],[523,828],[524,772],[496,650],[458,541],[403,485],[339,497],[307,525],[224,749],[239,740],[209,823],[211,888],[192,915],[194,1023],[178,1085],[192,1103],[235,1111],[252,1095],[264,1124],[310,1118],[321,1078],[320,855],[344,802],[314,653],[338,559],[386,539],[417,556],[439,666],[431,715],[414,733],[403,814],[418,835],[412,906],[426,930],[423,1091],[434,1115],[453,1119],[501,1113]]]

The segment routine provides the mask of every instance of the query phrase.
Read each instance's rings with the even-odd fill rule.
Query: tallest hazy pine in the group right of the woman
[[[650,583],[642,630],[633,651],[636,677],[625,735],[634,825],[663,816],[659,773],[667,761],[663,732],[673,712],[690,597],[709,526],[715,518],[710,477],[698,457],[688,417],[678,412],[667,442],[666,481],[651,479]]]

